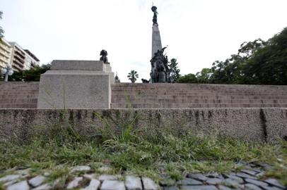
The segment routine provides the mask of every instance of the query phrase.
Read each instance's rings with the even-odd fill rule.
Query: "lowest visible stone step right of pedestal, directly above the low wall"
[[[131,108],[287,108],[287,104],[263,103],[130,103]],[[112,103],[111,108],[129,108],[127,103]]]

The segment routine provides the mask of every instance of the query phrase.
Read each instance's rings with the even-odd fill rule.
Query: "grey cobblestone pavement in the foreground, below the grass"
[[[240,165],[241,163],[238,163]],[[0,173],[0,189],[8,190],[45,190],[45,189],[86,189],[86,190],[177,190],[177,189],[204,189],[204,190],[228,190],[228,189],[254,189],[254,190],[281,190],[287,189],[276,179],[264,177],[269,165],[244,165],[245,169],[240,172],[229,172],[218,174],[189,173],[182,180],[175,182],[168,175],[162,175],[159,183],[153,182],[148,177],[137,177],[134,175],[97,175],[88,165],[73,167],[71,176],[60,182],[47,182],[49,173],[32,175],[31,170],[16,168]],[[100,168],[102,172],[110,170],[108,166]],[[59,185],[61,183],[61,185]]]

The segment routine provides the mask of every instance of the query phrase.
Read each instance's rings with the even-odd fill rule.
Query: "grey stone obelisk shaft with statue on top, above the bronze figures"
[[[160,40],[160,30],[158,29],[158,12],[156,11],[156,6],[151,7],[153,11],[153,39],[152,39],[152,49],[151,49],[151,58],[155,56],[155,53],[158,50],[162,49],[161,40]]]

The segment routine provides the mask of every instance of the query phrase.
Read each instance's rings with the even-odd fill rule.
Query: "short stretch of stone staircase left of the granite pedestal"
[[[37,108],[39,82],[0,82],[0,109]]]

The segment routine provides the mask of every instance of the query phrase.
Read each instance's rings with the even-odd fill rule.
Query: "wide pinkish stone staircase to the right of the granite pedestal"
[[[112,85],[111,108],[287,108],[287,86],[241,84]]]

